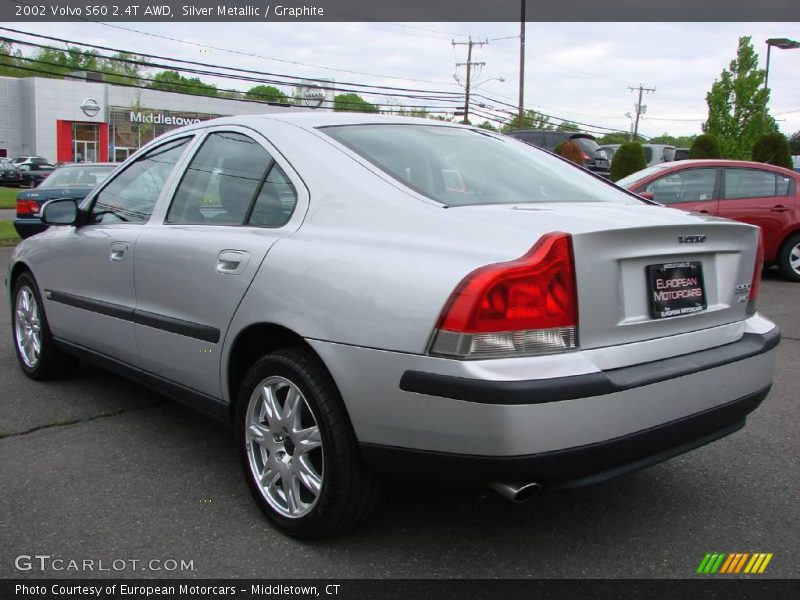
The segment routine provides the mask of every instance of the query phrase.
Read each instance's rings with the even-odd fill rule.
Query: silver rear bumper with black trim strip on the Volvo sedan
[[[722,417],[689,427],[672,446],[730,428],[772,384],[779,339],[774,324],[756,315],[671,338],[519,359],[458,361],[309,343],[336,381],[367,454],[385,454],[388,448],[402,455],[462,455],[476,461],[476,474],[484,478],[494,467],[487,473],[478,463],[525,464],[533,456],[602,449],[706,413]],[[709,340],[717,345],[709,348]],[[675,347],[683,354],[674,357]],[[629,366],[630,357],[642,362]],[[722,408],[739,401],[747,410],[731,416]],[[635,454],[657,454],[663,450],[657,446],[642,446]],[[498,476],[516,470],[498,470]]]

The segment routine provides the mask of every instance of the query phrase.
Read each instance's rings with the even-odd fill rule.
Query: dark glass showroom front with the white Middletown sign
[[[139,106],[111,106],[108,158],[112,162],[122,162],[162,133],[220,116],[222,115],[157,110]]]

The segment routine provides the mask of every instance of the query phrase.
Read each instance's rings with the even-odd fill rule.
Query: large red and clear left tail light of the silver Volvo
[[[527,254],[476,269],[442,311],[431,354],[497,358],[577,347],[572,238],[548,233]]]

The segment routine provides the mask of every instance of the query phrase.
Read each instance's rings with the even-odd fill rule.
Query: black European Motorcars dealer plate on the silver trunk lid
[[[688,315],[707,307],[700,262],[648,265],[647,280],[654,319]]]

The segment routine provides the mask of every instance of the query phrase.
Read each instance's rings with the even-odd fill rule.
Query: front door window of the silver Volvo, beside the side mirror
[[[171,140],[128,165],[95,198],[93,222],[146,222],[190,139]]]

